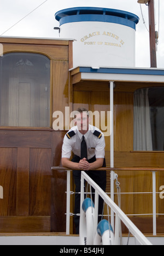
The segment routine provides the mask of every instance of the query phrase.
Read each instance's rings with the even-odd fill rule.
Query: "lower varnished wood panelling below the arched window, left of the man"
[[[66,172],[56,172],[55,177],[51,172],[51,166],[61,164],[66,132],[47,133],[51,135],[49,148],[20,148],[16,143],[12,148],[9,142],[7,148],[0,148],[0,184],[4,190],[0,200],[0,232],[66,230]],[[38,141],[39,136],[42,140],[43,134],[38,132]]]

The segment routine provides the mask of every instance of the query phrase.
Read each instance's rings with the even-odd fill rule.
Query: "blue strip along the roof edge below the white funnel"
[[[134,68],[99,68],[80,67],[81,73],[97,74],[137,74],[137,75],[164,75],[161,69],[134,69]]]

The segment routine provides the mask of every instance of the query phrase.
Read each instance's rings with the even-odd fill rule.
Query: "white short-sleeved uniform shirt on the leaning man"
[[[74,135],[70,138],[67,137],[68,133],[74,131]],[[97,131],[101,136],[96,136],[93,133]],[[80,157],[81,154],[81,141],[83,135],[79,132],[78,127],[74,126],[65,135],[62,146],[62,158],[71,158],[71,152]],[[105,139],[103,133],[97,127],[89,125],[89,130],[84,135],[87,146],[88,160],[96,156],[96,158],[105,157]]]

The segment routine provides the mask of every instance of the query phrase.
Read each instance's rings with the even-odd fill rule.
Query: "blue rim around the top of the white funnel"
[[[60,26],[70,22],[101,21],[112,22],[136,29],[139,22],[137,15],[127,11],[97,8],[97,7],[75,7],[57,11],[55,19]]]

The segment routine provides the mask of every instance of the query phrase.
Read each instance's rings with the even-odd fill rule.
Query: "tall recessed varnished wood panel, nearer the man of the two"
[[[30,216],[50,216],[51,149],[30,150]]]

